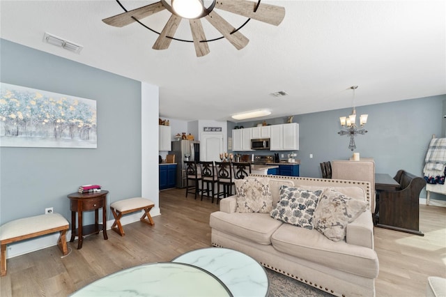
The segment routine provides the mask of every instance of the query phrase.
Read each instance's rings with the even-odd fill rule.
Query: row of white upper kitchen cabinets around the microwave
[[[299,124],[267,125],[232,130],[232,151],[252,151],[251,139],[270,139],[270,151],[297,151]]]

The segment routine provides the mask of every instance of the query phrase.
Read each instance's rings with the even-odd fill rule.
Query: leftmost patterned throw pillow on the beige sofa
[[[268,179],[236,179],[236,201],[238,213],[269,213],[272,196]]]

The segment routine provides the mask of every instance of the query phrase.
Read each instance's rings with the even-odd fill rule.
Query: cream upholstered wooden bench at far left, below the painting
[[[68,224],[66,218],[63,218],[59,213],[36,215],[3,224],[0,227],[1,276],[6,275],[6,245],[9,243],[59,231],[60,236],[57,245],[59,245],[59,249],[64,255],[68,254],[66,240]]]

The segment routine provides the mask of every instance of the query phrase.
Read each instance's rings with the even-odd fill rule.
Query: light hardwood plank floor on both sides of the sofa
[[[162,215],[153,218],[153,227],[134,222],[124,226],[124,237],[107,231],[108,241],[88,236],[82,250],[77,241],[68,243],[72,251],[66,257],[54,246],[8,259],[0,296],[67,296],[121,269],[210,246],[209,214],[218,206],[184,193],[160,192]],[[424,237],[375,228],[376,296],[424,296],[429,275],[446,277],[446,208],[421,205],[420,229]]]

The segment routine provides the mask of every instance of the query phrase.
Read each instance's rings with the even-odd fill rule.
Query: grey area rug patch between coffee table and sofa
[[[308,284],[294,280],[291,277],[287,277],[282,273],[265,269],[270,280],[270,293],[269,297],[288,297],[288,296],[332,296],[324,291],[316,289]]]

